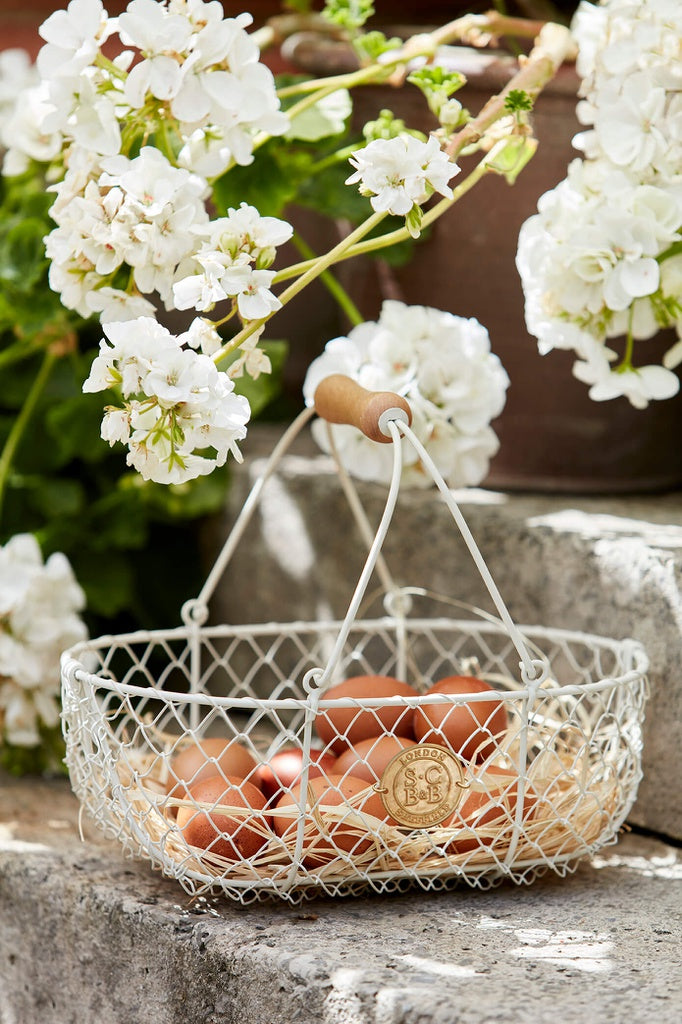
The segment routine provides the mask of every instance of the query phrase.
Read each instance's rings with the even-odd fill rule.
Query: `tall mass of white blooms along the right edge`
[[[528,330],[541,352],[573,349],[596,400],[644,408],[679,389],[664,366],[636,366],[635,342],[682,334],[682,8],[670,0],[584,3],[572,30],[583,79],[576,138],[584,159],[523,225],[517,265]],[[619,359],[607,344],[624,336]]]

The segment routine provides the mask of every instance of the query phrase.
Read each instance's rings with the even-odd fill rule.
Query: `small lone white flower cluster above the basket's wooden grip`
[[[413,135],[374,139],[353,153],[350,163],[355,171],[346,184],[359,182],[359,190],[370,197],[374,210],[398,216],[410,213],[434,191],[451,198],[447,182],[459,171],[433,135],[426,142]]]

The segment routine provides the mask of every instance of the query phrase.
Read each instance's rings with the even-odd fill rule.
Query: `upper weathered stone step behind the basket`
[[[263,468],[255,455],[275,435],[261,428],[236,475],[228,518]],[[385,489],[358,487],[371,523]],[[579,498],[458,494],[467,523],[516,623],[640,640],[650,663],[644,780],[631,820],[682,837],[682,494]],[[374,528],[374,526],[373,526]],[[224,536],[225,527],[217,530]],[[214,538],[217,543],[217,537]],[[267,483],[252,526],[219,586],[217,622],[341,615],[367,546],[354,527],[332,461],[303,438]],[[478,571],[437,493],[403,492],[384,547],[401,585],[493,610]],[[377,581],[370,585],[370,591]]]

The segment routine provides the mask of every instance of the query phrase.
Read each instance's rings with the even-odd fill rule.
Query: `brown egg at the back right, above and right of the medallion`
[[[432,693],[482,693],[496,691],[483,679],[473,676],[447,676],[434,683],[425,695]],[[440,743],[459,754],[465,761],[484,761],[497,749],[507,731],[507,709],[499,696],[489,700],[463,703],[423,705],[415,709],[415,737],[422,743]]]

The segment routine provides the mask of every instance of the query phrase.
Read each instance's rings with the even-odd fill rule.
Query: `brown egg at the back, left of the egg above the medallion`
[[[353,697],[363,700],[395,696],[418,697],[419,694],[408,683],[401,683],[392,676],[353,676],[330,687],[322,699],[337,700]],[[317,714],[315,728],[319,738],[325,743],[331,743],[337,754],[341,754],[347,746],[355,746],[360,740],[382,732],[392,732],[397,736],[413,738],[412,712],[404,705],[380,706],[372,710],[330,708]]]

